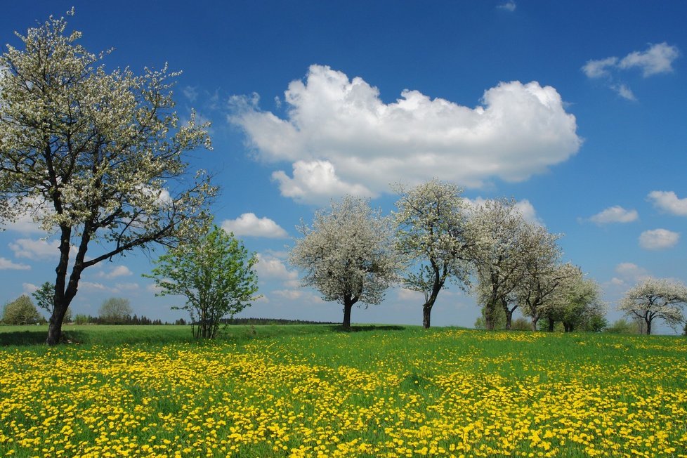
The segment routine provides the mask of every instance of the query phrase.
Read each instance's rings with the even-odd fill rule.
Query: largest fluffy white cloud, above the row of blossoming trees
[[[292,178],[284,171],[273,178],[282,194],[303,202],[435,177],[471,188],[490,178],[524,181],[582,143],[556,89],[535,81],[501,83],[475,108],[411,90],[384,103],[362,78],[312,65],[284,100],[289,110],[281,119],[261,111],[257,96],[235,96],[229,120],[244,129],[259,159],[294,164]]]

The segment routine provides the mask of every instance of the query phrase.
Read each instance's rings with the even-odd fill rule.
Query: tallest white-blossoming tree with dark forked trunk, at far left
[[[166,65],[108,72],[107,53],[86,51],[64,18],[17,37],[22,48],[0,56],[0,221],[31,214],[60,241],[55,344],[84,269],[207,223],[216,190],[202,172],[188,176],[183,153],[210,139],[193,114],[178,124]]]

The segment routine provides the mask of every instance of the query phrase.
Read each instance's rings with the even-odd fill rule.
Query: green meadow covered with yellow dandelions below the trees
[[[0,454],[687,456],[687,339],[275,329],[0,348]]]

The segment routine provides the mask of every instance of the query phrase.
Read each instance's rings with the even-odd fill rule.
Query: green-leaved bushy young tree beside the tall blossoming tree
[[[181,307],[191,318],[196,339],[214,339],[220,320],[233,316],[257,299],[258,262],[233,234],[214,228],[191,242],[170,249],[155,261],[152,275],[161,292],[157,296],[181,295]]]

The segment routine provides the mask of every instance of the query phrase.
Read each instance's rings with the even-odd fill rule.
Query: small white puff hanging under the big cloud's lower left
[[[297,161],[294,163],[293,178],[284,171],[275,171],[272,179],[279,183],[284,197],[292,197],[296,202],[320,204],[329,197],[346,194],[362,197],[377,197],[363,185],[344,183],[336,176],[334,164],[329,161]]]

